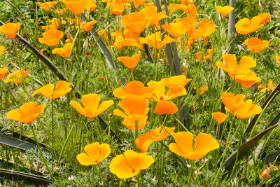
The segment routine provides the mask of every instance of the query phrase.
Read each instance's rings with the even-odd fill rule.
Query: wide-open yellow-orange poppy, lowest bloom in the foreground
[[[141,169],[147,169],[155,160],[147,153],[137,153],[132,150],[125,151],[124,155],[117,155],[111,160],[110,171],[118,178],[125,179],[137,175]]]

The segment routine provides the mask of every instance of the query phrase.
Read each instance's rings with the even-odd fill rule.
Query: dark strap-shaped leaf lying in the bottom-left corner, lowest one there
[[[38,176],[34,174],[27,174],[24,172],[17,172],[8,169],[0,169],[0,176],[3,180],[17,181],[30,183],[34,186],[48,186],[52,183],[51,179],[45,178],[43,176]]]

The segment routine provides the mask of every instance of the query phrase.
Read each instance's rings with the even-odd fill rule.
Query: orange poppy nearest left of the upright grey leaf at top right
[[[212,34],[213,32],[215,32],[216,27],[214,25],[213,22],[211,22],[211,20],[201,20],[200,21],[200,26],[197,27],[197,29],[195,27],[189,29],[187,31],[188,36],[190,36],[193,39],[204,39],[207,36],[210,36],[210,34]]]

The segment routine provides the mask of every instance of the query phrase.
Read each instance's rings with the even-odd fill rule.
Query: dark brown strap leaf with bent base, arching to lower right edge
[[[248,141],[246,141],[244,144],[242,144],[239,147],[239,155],[237,158],[237,150],[232,153],[232,155],[230,155],[230,157],[225,160],[225,162],[223,162],[223,167],[225,167],[225,169],[227,171],[230,171],[232,169],[232,167],[235,165],[235,160],[237,158],[237,161],[239,161],[244,155],[246,155],[247,151],[252,148],[255,143],[258,142],[259,139],[261,139],[265,134],[267,134],[267,132],[273,130],[275,127],[277,127],[279,124],[273,125],[272,127],[269,127],[265,130],[263,130],[262,132],[258,133],[255,135],[255,137],[253,137],[252,139],[249,139]]]

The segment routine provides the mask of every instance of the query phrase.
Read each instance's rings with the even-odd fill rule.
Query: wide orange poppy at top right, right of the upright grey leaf
[[[236,32],[242,35],[253,33],[260,27],[265,25],[269,20],[269,15],[261,14],[253,17],[251,20],[248,18],[243,18],[235,24]]]

